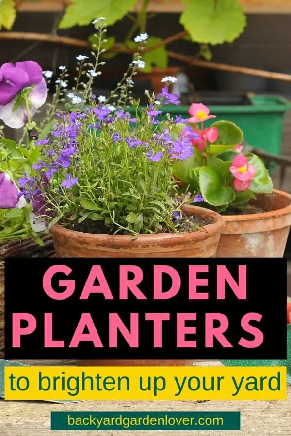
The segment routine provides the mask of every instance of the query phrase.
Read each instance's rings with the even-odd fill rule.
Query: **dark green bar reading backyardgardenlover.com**
[[[51,412],[51,430],[241,430],[240,412]]]

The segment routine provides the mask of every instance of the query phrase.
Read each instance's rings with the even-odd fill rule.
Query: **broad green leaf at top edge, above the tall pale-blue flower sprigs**
[[[106,24],[112,26],[121,20],[134,6],[135,0],[73,0],[66,7],[59,29],[74,26],[87,26],[93,20],[104,17]]]

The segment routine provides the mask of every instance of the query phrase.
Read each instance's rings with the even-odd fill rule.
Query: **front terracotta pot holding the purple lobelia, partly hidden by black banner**
[[[224,218],[216,212],[196,206],[184,206],[184,212],[212,223],[192,233],[139,235],[88,234],[60,225],[51,229],[58,257],[215,257]],[[192,360],[78,360],[80,366],[188,366]]]

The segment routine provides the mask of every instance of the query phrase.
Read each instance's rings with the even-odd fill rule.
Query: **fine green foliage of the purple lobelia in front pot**
[[[162,145],[153,140],[152,124],[146,111],[140,116],[140,123],[134,128],[129,126],[127,118],[104,123],[98,136],[88,133],[86,128],[86,124],[92,123],[91,115],[83,119],[78,137],[78,160],[72,159],[69,168],[59,168],[51,185],[44,190],[47,202],[57,215],[55,219],[61,218],[64,225],[70,221],[79,225],[94,221],[95,225],[103,226],[103,233],[104,226],[106,233],[175,230],[172,212],[177,206],[172,198],[175,182],[171,177],[170,156],[165,153],[161,160],[152,161],[144,146],[130,147],[124,139],[111,142],[113,133],[118,133],[120,138],[150,143],[154,153],[161,151]],[[58,154],[64,146],[65,143],[56,138],[50,147]],[[42,157],[42,160],[49,165],[50,157]],[[67,173],[78,177],[78,184],[70,189],[62,188]]]

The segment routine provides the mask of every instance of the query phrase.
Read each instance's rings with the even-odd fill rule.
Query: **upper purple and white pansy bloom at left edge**
[[[34,61],[24,61],[4,63],[0,68],[0,119],[8,127],[19,129],[27,122],[27,109],[25,101],[13,110],[19,97],[19,93],[27,88],[28,91],[30,116],[33,117],[36,110],[40,108],[47,99],[48,90],[43,72],[38,63]]]

